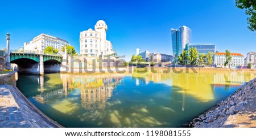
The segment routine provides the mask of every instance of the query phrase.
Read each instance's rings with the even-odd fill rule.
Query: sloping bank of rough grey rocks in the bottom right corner
[[[255,98],[256,78],[241,86],[234,94],[218,103],[216,107],[210,108],[204,114],[193,119],[188,127],[254,127],[256,124],[251,118],[244,122],[241,121],[254,116],[256,111]]]

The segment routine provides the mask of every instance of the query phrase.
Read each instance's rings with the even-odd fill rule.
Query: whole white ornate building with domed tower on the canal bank
[[[100,55],[111,55],[113,47],[110,41],[106,40],[108,25],[105,21],[98,20],[93,29],[80,32],[80,54],[85,57],[98,57]]]

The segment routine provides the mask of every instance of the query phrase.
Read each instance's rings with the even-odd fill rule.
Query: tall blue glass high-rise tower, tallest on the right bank
[[[172,56],[177,59],[177,56],[181,54],[185,49],[186,44],[191,44],[192,31],[185,25],[179,29],[171,28],[172,34]]]

